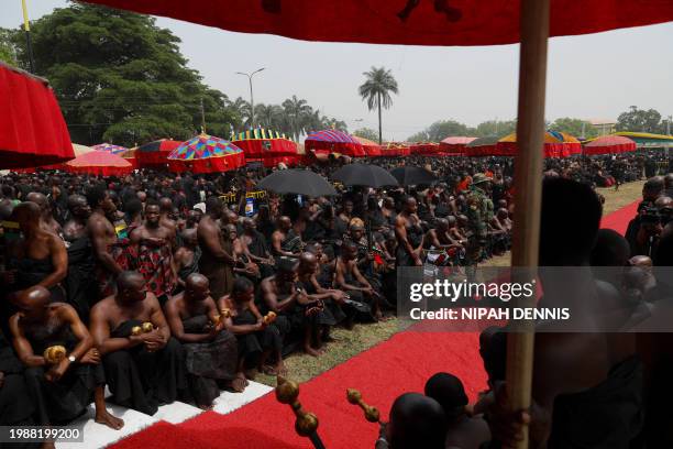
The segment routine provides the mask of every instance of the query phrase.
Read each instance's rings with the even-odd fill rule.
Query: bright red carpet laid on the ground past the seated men
[[[606,216],[602,228],[624,233],[636,215],[633,202]],[[478,335],[472,332],[397,333],[383,343],[317,376],[300,387],[300,401],[319,420],[319,434],[329,449],[371,447],[378,427],[365,421],[360,408],[349,404],[349,387],[362,392],[382,417],[404,392],[422,392],[426,380],[438,371],[457,375],[471,401],[485,388],[486,375],[478,353]],[[135,448],[296,449],[311,443],[295,432],[287,405],[267,394],[229,415],[207,412],[179,425],[159,423],[112,446]]]

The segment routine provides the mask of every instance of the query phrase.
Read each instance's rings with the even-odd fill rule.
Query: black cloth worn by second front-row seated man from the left
[[[141,321],[120,324],[112,338],[128,338]],[[148,352],[144,344],[103,355],[106,380],[112,392],[111,402],[154,415],[161,404],[187,395],[187,376],[183,346],[173,337],[161,350]]]

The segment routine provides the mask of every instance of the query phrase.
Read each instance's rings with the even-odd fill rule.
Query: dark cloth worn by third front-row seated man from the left
[[[210,322],[199,315],[183,320],[187,333],[203,333]],[[189,392],[197,405],[210,405],[220,396],[218,381],[231,381],[236,375],[236,338],[222,330],[211,340],[200,343],[183,343]]]

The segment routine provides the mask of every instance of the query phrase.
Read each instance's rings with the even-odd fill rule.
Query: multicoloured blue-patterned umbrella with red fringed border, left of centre
[[[176,172],[217,173],[245,165],[243,150],[213,135],[200,134],[183,142],[168,155],[170,169]]]

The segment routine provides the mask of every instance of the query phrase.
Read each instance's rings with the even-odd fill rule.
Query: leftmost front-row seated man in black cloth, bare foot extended
[[[70,305],[51,299],[44,287],[26,288],[14,296],[19,311],[10,318],[36,424],[67,424],[95,402],[96,421],[120,429],[123,420],[106,409],[106,379],[93,339]],[[49,355],[57,352],[55,346],[65,349],[59,358]]]

